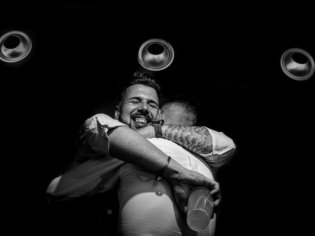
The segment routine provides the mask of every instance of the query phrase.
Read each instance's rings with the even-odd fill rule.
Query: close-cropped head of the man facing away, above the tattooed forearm
[[[198,125],[201,108],[199,103],[187,95],[175,95],[162,102],[161,112],[165,124]]]

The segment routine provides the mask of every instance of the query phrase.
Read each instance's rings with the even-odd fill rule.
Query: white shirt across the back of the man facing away
[[[213,179],[203,159],[172,141],[149,139],[156,147],[171,156],[183,167]],[[172,186],[155,174],[126,163],[120,168],[120,219],[122,236],[213,236],[216,216],[202,232],[189,229],[186,215],[177,206]]]

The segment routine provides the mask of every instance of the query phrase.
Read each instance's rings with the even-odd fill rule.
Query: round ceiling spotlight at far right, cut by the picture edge
[[[312,56],[299,48],[286,50],[281,57],[281,68],[293,80],[307,80],[314,74],[315,64]]]

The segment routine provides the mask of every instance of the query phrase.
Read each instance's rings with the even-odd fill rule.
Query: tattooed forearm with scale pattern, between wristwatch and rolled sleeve
[[[162,133],[164,139],[171,140],[194,153],[212,152],[212,139],[204,127],[163,125]]]

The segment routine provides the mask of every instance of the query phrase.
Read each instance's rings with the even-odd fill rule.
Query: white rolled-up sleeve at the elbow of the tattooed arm
[[[224,133],[209,128],[207,129],[212,139],[212,152],[199,155],[204,158],[212,170],[217,171],[230,161],[236,146],[233,140]]]

